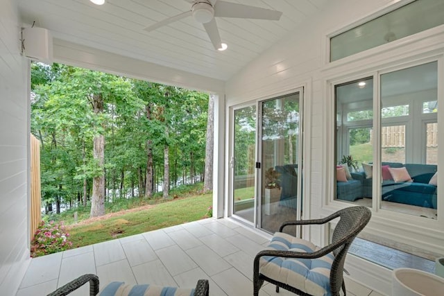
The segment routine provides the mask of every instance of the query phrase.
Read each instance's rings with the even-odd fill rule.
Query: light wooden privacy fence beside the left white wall
[[[31,241],[42,220],[40,208],[40,141],[31,134]]]

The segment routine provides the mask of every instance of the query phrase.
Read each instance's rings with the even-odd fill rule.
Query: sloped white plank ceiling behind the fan
[[[192,17],[147,32],[146,26],[190,10],[184,0],[18,0],[24,26],[47,28],[53,37],[165,67],[228,80],[275,42],[322,10],[327,0],[227,0],[280,10],[279,21],[216,17],[226,51],[216,51]]]

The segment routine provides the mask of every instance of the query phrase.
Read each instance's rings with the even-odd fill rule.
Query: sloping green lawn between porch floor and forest
[[[149,232],[206,218],[212,206],[212,193],[202,194],[201,186],[171,191],[173,198],[132,198],[105,205],[108,217],[89,218],[89,207],[77,208],[78,224],[74,223],[74,209],[52,218],[63,220],[73,247],[83,247],[114,238]],[[200,191],[201,192],[201,191]],[[138,208],[139,207],[139,208]],[[119,211],[120,209],[120,211]]]

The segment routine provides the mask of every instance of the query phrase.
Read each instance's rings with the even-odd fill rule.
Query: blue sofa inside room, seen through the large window
[[[384,180],[382,182],[382,200],[411,204],[419,207],[436,209],[436,186],[429,184],[430,179],[438,170],[434,164],[401,164],[399,162],[382,162],[382,166],[391,168],[405,167],[413,182],[394,182]],[[364,172],[355,173],[355,177],[361,180],[362,197],[372,197],[373,180],[366,179]]]

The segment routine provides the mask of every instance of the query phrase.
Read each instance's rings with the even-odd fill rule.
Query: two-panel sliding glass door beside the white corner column
[[[266,232],[302,214],[301,110],[298,89],[231,112],[231,214]]]

